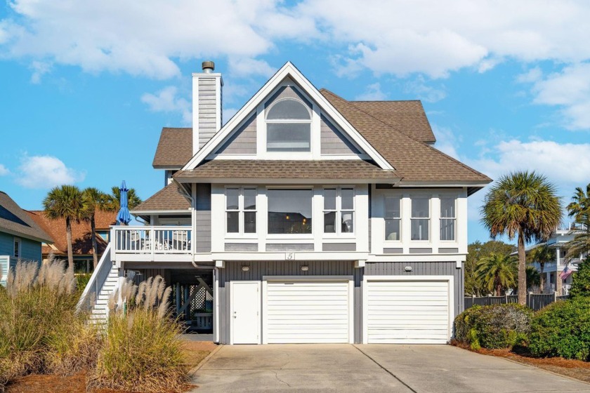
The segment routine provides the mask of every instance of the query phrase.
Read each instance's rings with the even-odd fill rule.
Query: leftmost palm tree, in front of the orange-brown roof
[[[75,185],[53,187],[43,200],[45,216],[50,220],[65,218],[65,234],[67,237],[67,262],[74,266],[72,251],[72,220],[80,222],[84,218],[84,203],[82,193]]]

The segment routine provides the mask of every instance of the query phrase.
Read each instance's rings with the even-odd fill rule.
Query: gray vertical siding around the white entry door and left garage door
[[[242,264],[249,265],[248,272],[242,272]],[[308,265],[307,272],[301,272],[301,266]],[[350,261],[252,261],[226,262],[225,269],[219,269],[219,333],[221,343],[230,342],[230,281],[261,281],[263,276],[353,276],[354,289],[354,325],[355,342],[360,342],[360,283],[362,269],[355,269]]]

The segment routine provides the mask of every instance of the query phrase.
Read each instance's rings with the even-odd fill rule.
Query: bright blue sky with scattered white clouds
[[[202,61],[228,120],[290,60],[348,100],[421,100],[442,152],[542,173],[567,204],[590,182],[588,20],[584,0],[0,0],[0,190],[29,210],[62,184],[146,199]],[[470,242],[488,239],[485,192]]]

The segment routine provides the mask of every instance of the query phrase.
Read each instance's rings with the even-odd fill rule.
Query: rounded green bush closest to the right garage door
[[[512,348],[523,345],[533,312],[517,304],[473,306],[455,318],[455,339],[471,349]]]

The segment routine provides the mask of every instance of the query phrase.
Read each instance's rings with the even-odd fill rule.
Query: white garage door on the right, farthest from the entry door
[[[450,281],[367,281],[369,343],[450,339]]]

